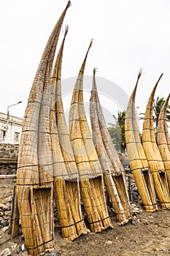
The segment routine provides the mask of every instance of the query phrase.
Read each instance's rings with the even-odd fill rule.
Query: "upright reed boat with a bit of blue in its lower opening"
[[[157,209],[155,189],[152,175],[148,166],[147,158],[144,154],[139,130],[136,122],[135,96],[139,78],[142,75],[140,70],[136,86],[131,94],[125,116],[125,142],[131,170],[138,188],[142,203],[146,211],[153,212]]]

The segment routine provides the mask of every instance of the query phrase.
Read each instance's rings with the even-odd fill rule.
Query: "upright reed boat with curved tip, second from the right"
[[[163,74],[161,74],[160,78],[158,79],[158,82],[161,80],[162,75]],[[162,208],[169,208],[170,198],[168,181],[163,161],[161,158],[161,154],[160,151],[158,150],[158,146],[155,140],[155,132],[153,127],[152,105],[155,90],[158,86],[158,82],[152,89],[152,93],[150,94],[150,98],[147,102],[147,108],[144,113],[142,146],[147,156],[147,161],[150,166],[150,171],[152,173],[156,197],[158,197],[158,200],[161,203]]]

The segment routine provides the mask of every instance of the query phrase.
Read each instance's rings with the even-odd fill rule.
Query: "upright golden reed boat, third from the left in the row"
[[[91,45],[92,41],[88,51]],[[80,192],[90,223],[90,230],[100,232],[107,227],[112,227],[112,223],[107,211],[101,165],[90,134],[83,104],[82,80],[87,57],[88,52],[74,86],[69,113],[69,131],[80,175]]]

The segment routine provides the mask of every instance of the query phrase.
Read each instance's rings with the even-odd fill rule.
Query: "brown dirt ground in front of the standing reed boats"
[[[0,181],[0,203],[12,195],[12,181]],[[88,233],[80,236],[73,242],[65,241],[60,229],[55,229],[55,249],[62,256],[131,256],[131,255],[170,255],[170,211],[159,210],[154,214],[146,213],[140,206],[140,214],[137,214],[136,225],[131,222],[124,226],[118,226],[115,216],[110,214],[113,229],[103,233]],[[0,233],[1,230],[0,230]],[[10,236],[3,233],[0,243]],[[0,252],[4,248],[10,248],[10,242],[20,244],[21,238],[10,239],[0,246]],[[20,253],[19,255],[22,255]]]

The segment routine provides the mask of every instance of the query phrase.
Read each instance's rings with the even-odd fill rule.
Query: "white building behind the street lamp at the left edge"
[[[0,143],[19,144],[23,119],[0,113]]]

